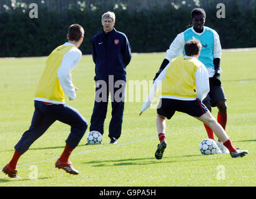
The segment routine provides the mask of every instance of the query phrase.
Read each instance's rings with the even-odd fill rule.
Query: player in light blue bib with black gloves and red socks
[[[175,57],[184,54],[184,44],[190,39],[198,39],[202,44],[202,50],[199,56],[200,62],[204,63],[209,73],[210,91],[203,100],[203,103],[212,111],[212,107],[217,106],[219,112],[217,114],[218,123],[225,129],[227,124],[227,104],[225,103],[225,93],[220,81],[220,57],[222,48],[220,45],[220,39],[217,32],[209,27],[204,26],[205,24],[205,11],[201,8],[196,8],[191,12],[192,22],[190,25],[193,27],[185,30],[184,32],[177,35],[170,48],[167,50],[167,54],[156,73],[155,78],[164,70],[167,64]],[[154,80],[155,80],[154,78]],[[214,140],[214,132],[212,129],[204,124],[207,131],[208,137]],[[220,147],[223,153],[229,153],[229,150],[223,145],[220,140],[217,140],[217,145]]]

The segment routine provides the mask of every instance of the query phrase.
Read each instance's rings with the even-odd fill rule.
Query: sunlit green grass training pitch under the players
[[[128,80],[152,80],[165,53],[134,54],[127,67]],[[159,143],[155,110],[139,117],[140,102],[127,101],[122,136],[115,145],[107,137],[111,106],[107,113],[102,144],[86,146],[86,131],[70,160],[79,175],[69,175],[54,167],[62,153],[69,126],[54,123],[18,162],[21,178],[0,173],[0,186],[68,187],[183,187],[256,185],[256,51],[223,52],[222,83],[227,96],[227,134],[235,147],[249,155],[232,159],[229,154],[201,155],[199,143],[207,138],[204,126],[183,113],[167,121],[167,149],[162,160],[154,158]],[[0,59],[0,167],[11,160],[14,146],[31,123],[33,95],[46,58]],[[90,123],[94,104],[94,64],[83,56],[73,75],[79,88],[75,101],[66,103],[78,109]],[[128,89],[128,88],[127,88]],[[110,104],[109,104],[110,105]],[[217,109],[212,113],[217,116]]]

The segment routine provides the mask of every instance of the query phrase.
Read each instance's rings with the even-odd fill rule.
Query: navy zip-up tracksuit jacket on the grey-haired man
[[[96,64],[95,80],[108,80],[114,75],[116,80],[126,81],[126,67],[130,63],[130,44],[125,34],[113,29],[104,30],[92,37],[92,59]]]

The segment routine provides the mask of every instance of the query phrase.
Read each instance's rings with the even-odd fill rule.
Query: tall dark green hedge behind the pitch
[[[164,52],[175,36],[187,29],[191,10],[192,7],[187,6],[134,12],[119,8],[114,10],[115,27],[127,35],[132,52]],[[17,8],[0,13],[0,57],[47,56],[66,41],[67,28],[74,23],[81,24],[86,32],[80,47],[82,53],[91,54],[91,38],[102,30],[101,15],[106,12],[101,8],[95,11],[76,9],[61,16],[44,8],[39,9],[37,19],[31,19],[29,11]],[[245,11],[239,1],[234,1],[225,6],[225,19],[216,17],[216,7],[205,12],[205,25],[219,33],[223,49],[256,47],[254,6]]]

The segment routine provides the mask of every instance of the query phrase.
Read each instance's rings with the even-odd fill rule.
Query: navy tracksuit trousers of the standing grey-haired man
[[[100,80],[103,81],[103,80]],[[122,81],[122,80],[121,80]],[[104,133],[104,121],[107,115],[107,104],[109,101],[109,93],[111,95],[111,122],[109,123],[109,137],[116,137],[118,139],[121,136],[122,130],[122,119],[124,113],[124,94],[126,90],[125,81],[122,84],[115,87],[112,84],[106,84],[106,88],[97,86],[96,81],[96,98],[94,101],[94,109],[91,116],[90,131],[99,131],[101,134]],[[102,90],[101,95],[99,91]],[[106,95],[105,97],[102,95]],[[101,99],[97,99],[101,98]]]

